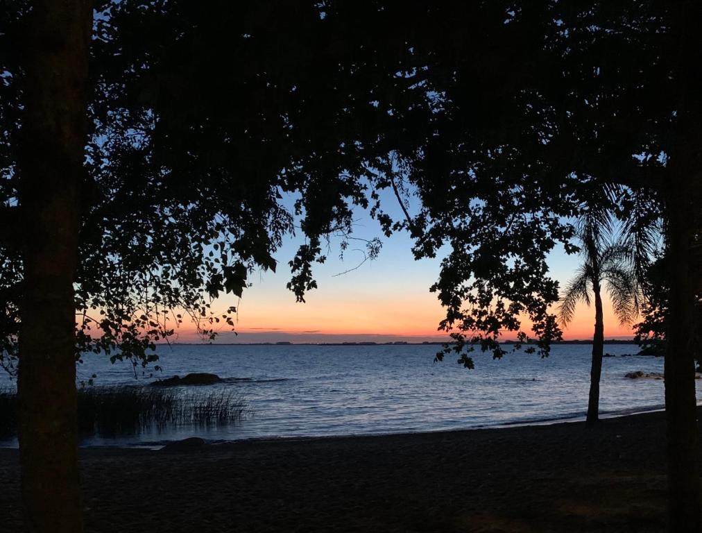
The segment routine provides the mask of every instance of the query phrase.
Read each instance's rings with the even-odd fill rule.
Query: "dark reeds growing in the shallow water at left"
[[[18,400],[0,391],[0,435],[16,435]],[[157,387],[84,387],[78,390],[78,428],[84,435],[130,435],[145,430],[234,423],[246,404],[232,390],[183,394]]]

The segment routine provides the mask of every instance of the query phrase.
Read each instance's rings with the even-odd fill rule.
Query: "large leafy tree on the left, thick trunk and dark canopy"
[[[317,2],[106,2],[94,20],[84,2],[12,7],[0,34],[0,359],[19,361],[27,531],[78,532],[75,358],[154,362],[182,314],[206,335],[231,325],[234,309],[211,301],[275,268],[295,215],[308,238],[291,261],[302,300],[324,235],[350,229],[352,206],[369,204],[364,176],[388,164],[378,132],[405,120],[372,91],[402,86],[420,113],[430,99],[378,63],[387,20],[346,40],[364,15],[353,8],[332,23]],[[284,193],[300,193],[294,214]]]

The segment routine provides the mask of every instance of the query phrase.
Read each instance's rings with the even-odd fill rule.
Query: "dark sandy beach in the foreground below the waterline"
[[[376,437],[81,451],[88,532],[651,532],[663,413]],[[3,532],[21,531],[0,450]]]

